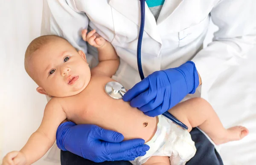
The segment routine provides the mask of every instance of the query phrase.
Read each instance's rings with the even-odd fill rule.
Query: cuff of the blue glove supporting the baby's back
[[[62,151],[67,151],[64,147],[64,141],[66,138],[66,134],[70,127],[75,126],[76,124],[73,122],[64,122],[61,125],[58,126],[58,129],[56,131],[56,144],[59,149]]]

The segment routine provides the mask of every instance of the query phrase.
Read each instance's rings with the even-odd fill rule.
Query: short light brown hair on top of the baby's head
[[[25,53],[25,59],[24,59],[24,66],[25,66],[26,72],[29,74],[29,76],[34,81],[35,81],[35,78],[32,73],[33,68],[29,67],[29,63],[30,63],[32,55],[35,53],[35,51],[37,51],[40,48],[42,48],[43,46],[47,45],[49,42],[52,42],[55,40],[57,41],[60,39],[67,41],[66,39],[56,36],[56,35],[44,35],[44,36],[40,36],[40,37],[37,37],[34,40],[32,40],[31,43],[29,44],[29,46],[27,47],[26,53]]]

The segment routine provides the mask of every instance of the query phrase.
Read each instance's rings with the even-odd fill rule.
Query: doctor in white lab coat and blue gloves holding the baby
[[[144,75],[149,76],[141,82],[136,57],[139,0],[44,0],[42,35],[65,37],[74,47],[87,52],[87,60],[93,67],[97,55],[82,40],[81,30],[96,29],[113,44],[120,57],[113,78],[125,88],[131,88],[124,100],[131,101],[131,106],[148,116],[172,108],[187,94],[195,93],[201,83],[201,97],[207,99],[207,91],[218,75],[237,65],[237,59],[256,40],[255,0],[147,0],[145,6],[141,58]],[[210,17],[219,30],[213,42],[202,49]],[[162,91],[160,84],[154,82],[162,83]],[[172,91],[165,96],[168,88]],[[109,164],[104,161],[131,160],[147,150],[143,140],[122,142],[121,134],[102,128],[95,132],[95,127],[73,122],[59,126],[56,138],[62,150],[62,165]],[[222,164],[213,145],[197,128],[191,135],[198,151],[187,165]]]

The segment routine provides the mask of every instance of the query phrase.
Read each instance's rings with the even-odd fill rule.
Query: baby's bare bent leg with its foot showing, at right
[[[245,127],[235,126],[225,129],[212,106],[202,98],[193,98],[177,104],[169,112],[189,127],[203,130],[215,144],[240,140],[249,131]]]

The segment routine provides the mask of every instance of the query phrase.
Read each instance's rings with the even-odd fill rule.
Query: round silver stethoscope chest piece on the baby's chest
[[[122,99],[123,95],[126,93],[125,87],[115,81],[108,82],[105,85],[105,91],[113,99]]]

